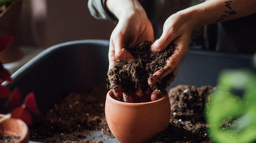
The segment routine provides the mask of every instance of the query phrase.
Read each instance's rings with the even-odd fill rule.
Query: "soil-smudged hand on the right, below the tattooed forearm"
[[[195,22],[188,14],[178,12],[167,18],[163,25],[163,34],[151,45],[150,52],[162,52],[171,42],[175,45],[175,49],[171,57],[166,60],[166,66],[156,71],[154,78],[148,81],[149,85],[172,72],[174,76],[171,82],[174,81],[182,61],[188,54],[189,40],[194,27]]]

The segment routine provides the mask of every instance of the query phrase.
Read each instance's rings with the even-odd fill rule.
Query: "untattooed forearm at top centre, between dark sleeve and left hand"
[[[145,10],[137,0],[107,0],[107,8],[112,12],[118,19],[126,14],[140,14],[147,16]]]

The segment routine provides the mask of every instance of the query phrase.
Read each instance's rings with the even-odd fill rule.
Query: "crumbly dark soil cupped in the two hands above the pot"
[[[123,92],[129,95],[155,89],[160,91],[159,95],[162,94],[170,84],[173,73],[159,79],[159,82],[151,86],[148,85],[148,80],[152,80],[152,76],[157,70],[164,70],[165,61],[172,55],[174,45],[168,45],[162,53],[151,53],[149,51],[151,45],[150,41],[144,41],[135,47],[127,48],[134,55],[135,60],[130,63],[116,60],[114,67],[108,72],[110,89],[117,91],[117,85],[120,84]]]

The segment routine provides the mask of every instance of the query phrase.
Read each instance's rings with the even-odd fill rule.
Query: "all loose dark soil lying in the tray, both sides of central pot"
[[[171,120],[166,131],[157,135],[153,143],[211,143],[207,135],[204,119],[204,103],[211,86],[178,85],[169,91]],[[34,120],[31,140],[45,142],[46,138],[56,137],[47,142],[101,143],[86,138],[88,131],[101,130],[113,137],[105,119],[105,86],[94,88],[83,94],[71,93],[55,104],[45,118]],[[72,134],[67,138],[66,134]],[[87,139],[86,141],[80,141]]]

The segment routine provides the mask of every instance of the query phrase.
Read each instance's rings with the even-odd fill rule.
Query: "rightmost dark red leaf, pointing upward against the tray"
[[[36,115],[41,115],[37,105],[36,105],[36,101],[35,101],[35,96],[34,93],[31,92],[27,95],[26,99],[25,99],[25,104],[26,104],[26,108],[36,114]]]

